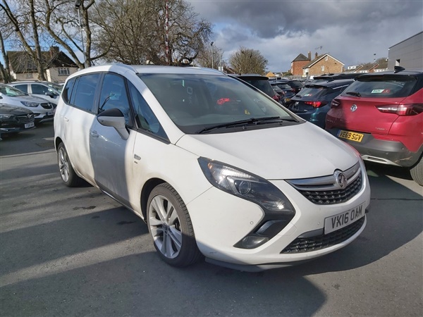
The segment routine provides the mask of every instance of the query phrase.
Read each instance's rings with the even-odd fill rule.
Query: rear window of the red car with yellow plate
[[[363,76],[357,78],[342,96],[367,98],[407,97],[415,87],[417,78],[403,75]]]

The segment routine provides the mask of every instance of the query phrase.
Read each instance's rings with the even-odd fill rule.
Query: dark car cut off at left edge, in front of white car
[[[0,104],[0,135],[9,135],[35,127],[34,113],[25,108]]]

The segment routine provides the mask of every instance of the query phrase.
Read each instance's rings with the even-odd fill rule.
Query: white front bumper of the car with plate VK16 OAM
[[[187,205],[197,245],[207,261],[241,271],[292,266],[329,254],[345,247],[360,235],[366,225],[365,216],[362,224],[351,235],[338,240],[336,244],[298,252],[284,252],[284,250],[302,237],[310,240],[321,236],[326,218],[357,206],[363,206],[363,210],[367,209],[370,189],[364,167],[362,177],[363,185],[360,192],[344,203],[331,205],[313,204],[286,181],[272,181],[293,204],[295,216],[281,232],[255,249],[233,246],[255,228],[264,217],[264,211],[257,204],[212,187]]]

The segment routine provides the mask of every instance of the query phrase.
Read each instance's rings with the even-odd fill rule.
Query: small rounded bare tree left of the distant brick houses
[[[239,74],[257,73],[264,74],[268,61],[256,49],[247,49],[241,46],[229,57],[233,70]]]

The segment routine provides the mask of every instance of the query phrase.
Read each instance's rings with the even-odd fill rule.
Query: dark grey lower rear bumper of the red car
[[[338,136],[339,129],[326,130],[335,137]],[[385,139],[376,139],[370,133],[362,133],[362,142],[341,139],[357,149],[364,161],[381,163],[393,166],[411,167],[420,159],[423,153],[423,144],[419,151],[412,152],[402,142]]]

